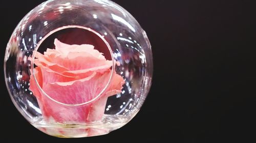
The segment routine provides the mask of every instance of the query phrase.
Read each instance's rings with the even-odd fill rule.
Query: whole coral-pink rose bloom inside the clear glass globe
[[[42,91],[65,104],[81,104],[98,96],[109,82],[113,61],[106,60],[92,45],[68,45],[57,39],[54,44],[55,49],[35,53],[34,74]],[[44,95],[36,84],[31,74],[30,90],[46,121],[79,124],[101,120],[107,98],[121,92],[124,79],[114,72],[101,96],[81,106],[58,104]]]

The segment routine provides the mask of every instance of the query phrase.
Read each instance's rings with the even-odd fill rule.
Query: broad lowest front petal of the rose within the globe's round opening
[[[43,90],[53,99],[66,104],[80,104],[94,99],[103,90],[110,72],[93,75],[70,82],[46,83]],[[63,94],[65,93],[65,94]]]

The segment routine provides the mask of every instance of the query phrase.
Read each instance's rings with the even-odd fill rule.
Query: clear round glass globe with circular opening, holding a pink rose
[[[135,18],[107,0],[51,0],[31,10],[7,44],[11,99],[57,137],[109,133],[129,122],[151,87],[153,58]]]

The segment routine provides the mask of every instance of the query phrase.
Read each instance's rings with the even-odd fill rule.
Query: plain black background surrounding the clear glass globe
[[[42,2],[1,2],[2,61],[17,23]],[[114,2],[138,20],[152,44],[153,85],[138,115],[108,135],[51,137],[16,110],[0,70],[0,142],[256,142],[253,1]]]

